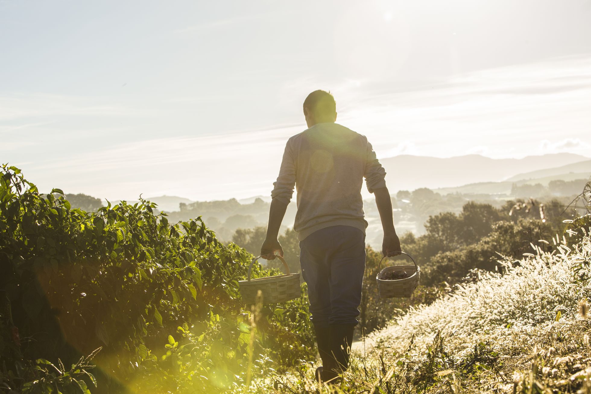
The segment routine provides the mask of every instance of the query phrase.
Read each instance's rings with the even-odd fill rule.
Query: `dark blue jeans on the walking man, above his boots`
[[[363,232],[352,226],[317,230],[300,241],[300,265],[314,325],[357,325],[365,271]]]

